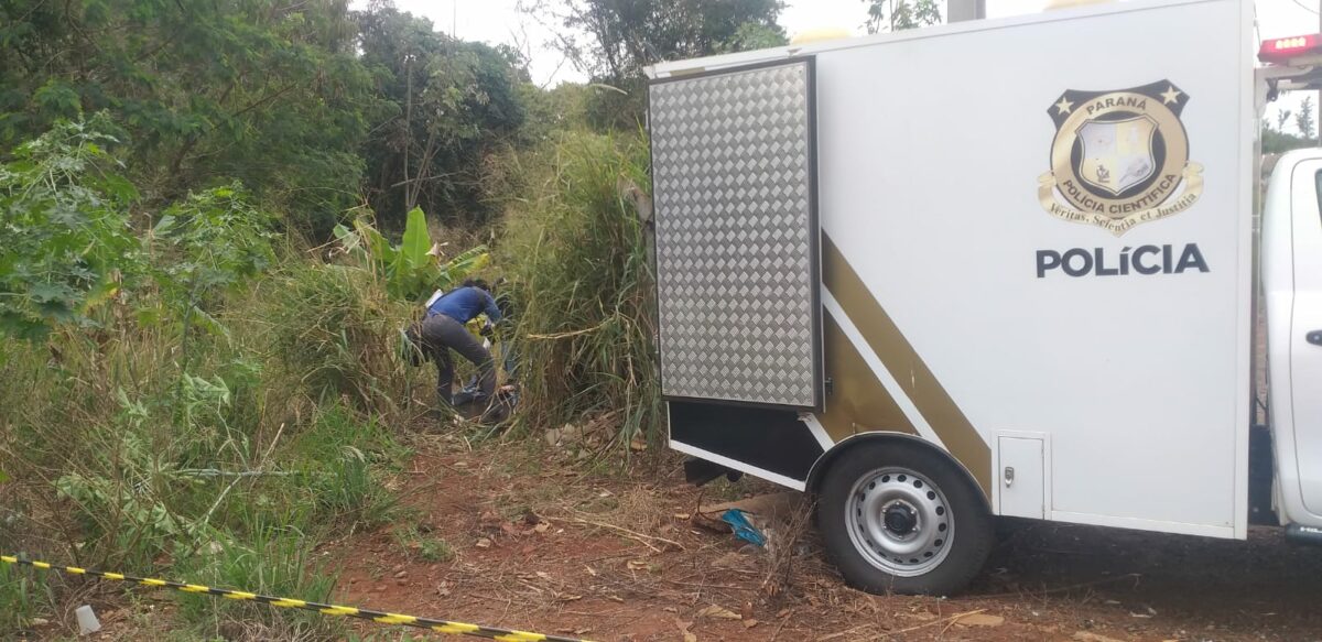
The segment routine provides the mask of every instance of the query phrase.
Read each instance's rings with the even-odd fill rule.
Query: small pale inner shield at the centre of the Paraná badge
[[[1113,196],[1157,172],[1153,136],[1157,122],[1141,115],[1124,120],[1089,120],[1079,127],[1083,155],[1079,178]]]

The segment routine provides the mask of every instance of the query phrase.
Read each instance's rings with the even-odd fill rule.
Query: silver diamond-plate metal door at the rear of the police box
[[[812,59],[649,91],[662,394],[818,407]]]

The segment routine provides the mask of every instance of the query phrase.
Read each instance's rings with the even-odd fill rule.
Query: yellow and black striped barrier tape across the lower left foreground
[[[291,600],[287,597],[259,596],[256,593],[249,593],[245,590],[230,590],[230,589],[202,587],[201,584],[181,584],[177,581],[155,580],[151,577],[134,577],[131,575],[107,573],[104,571],[91,571],[87,568],[78,568],[78,567],[57,567],[54,564],[48,564],[45,561],[26,560],[9,555],[0,555],[0,563],[25,564],[29,567],[41,568],[46,571],[59,571],[70,575],[85,575],[85,576],[100,577],[103,580],[127,581],[127,583],[140,584],[143,587],[164,587],[176,590],[182,590],[184,593],[204,593],[209,596],[226,597],[230,600],[249,600],[260,604],[270,604],[271,606],[278,606],[282,609],[303,609],[303,610],[321,613],[325,616],[356,617],[358,620],[370,620],[373,622],[385,625],[415,626],[418,629],[428,629],[438,633],[446,633],[449,635],[475,635],[479,638],[496,639],[500,642],[542,642],[542,641],[587,642],[584,639],[578,639],[578,638],[543,635],[541,633],[497,629],[494,626],[479,626],[464,622],[449,622],[446,620],[431,620],[426,617],[401,616],[399,613],[385,613],[381,610],[358,609],[354,606],[336,606],[333,604],[308,602],[304,600]]]

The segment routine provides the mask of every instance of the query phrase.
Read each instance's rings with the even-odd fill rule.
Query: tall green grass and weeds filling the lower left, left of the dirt
[[[152,296],[152,295],[144,295]],[[219,296],[205,328],[119,301],[94,328],[0,341],[0,551],[323,600],[312,547],[390,518],[387,428],[408,376],[407,306],[370,279],[296,259]],[[0,638],[58,621],[87,584],[0,568]],[[123,587],[91,587],[126,590]],[[283,609],[181,598],[205,638],[342,637]]]

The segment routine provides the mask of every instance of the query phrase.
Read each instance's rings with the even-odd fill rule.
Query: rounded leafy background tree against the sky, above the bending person
[[[402,229],[405,214],[422,207],[449,223],[486,222],[483,162],[525,120],[527,77],[517,55],[453,40],[389,3],[357,18],[362,61],[389,106],[364,148],[378,221]]]

